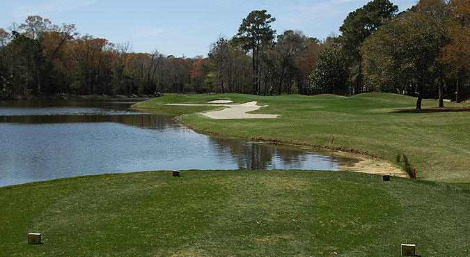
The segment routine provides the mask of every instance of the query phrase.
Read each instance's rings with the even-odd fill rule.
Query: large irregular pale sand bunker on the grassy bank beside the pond
[[[203,114],[209,118],[216,118],[220,120],[230,120],[234,118],[277,118],[277,114],[246,114],[249,111],[256,111],[265,106],[256,105],[256,101],[246,102],[244,104],[168,104],[168,105],[183,105],[183,106],[224,106],[228,107],[220,111],[207,111]]]

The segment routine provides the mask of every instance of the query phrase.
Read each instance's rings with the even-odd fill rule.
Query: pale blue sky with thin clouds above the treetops
[[[369,0],[370,1],[370,0]],[[115,44],[132,45],[133,52],[158,52],[173,56],[207,56],[219,36],[234,36],[252,10],[267,10],[276,18],[277,34],[301,30],[318,39],[335,33],[348,13],[368,0],[18,0],[3,1],[0,27],[24,23],[40,15],[52,24],[75,24],[81,35],[106,38]],[[400,11],[416,0],[391,1]]]

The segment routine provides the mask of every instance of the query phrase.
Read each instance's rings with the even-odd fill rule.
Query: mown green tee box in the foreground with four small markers
[[[169,171],[0,188],[2,256],[469,256],[469,190],[335,171]],[[30,232],[43,244],[27,244]]]

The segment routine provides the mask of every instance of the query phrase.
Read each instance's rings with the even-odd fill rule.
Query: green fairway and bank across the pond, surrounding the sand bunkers
[[[281,114],[275,119],[214,120],[197,114],[217,107],[175,107],[164,103],[203,104],[229,99],[233,103],[258,101],[269,105],[253,114]],[[416,98],[390,93],[257,96],[241,94],[169,95],[136,104],[148,111],[182,114],[182,123],[205,134],[253,141],[290,143],[363,153],[395,163],[406,153],[418,178],[470,184],[470,112],[403,113]],[[448,107],[470,104],[446,103]],[[437,107],[423,100],[423,107]],[[219,107],[222,108],[222,107]],[[334,136],[334,143],[331,139]]]

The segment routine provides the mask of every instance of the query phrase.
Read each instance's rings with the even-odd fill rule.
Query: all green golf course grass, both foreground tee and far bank
[[[253,114],[281,116],[217,120],[198,112],[225,107],[165,105],[217,99],[257,101],[269,106]],[[388,93],[222,94],[134,104],[207,134],[361,153],[395,166],[405,153],[418,179],[191,170],[0,187],[0,256],[398,257],[400,244],[416,244],[418,256],[470,256],[470,112],[396,111],[415,101]],[[28,244],[28,233],[42,233],[42,244]]]

